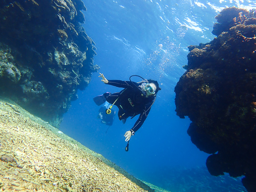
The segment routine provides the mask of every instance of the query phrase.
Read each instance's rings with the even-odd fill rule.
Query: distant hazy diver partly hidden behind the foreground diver
[[[108,126],[113,125],[113,120],[116,114],[116,112],[113,110],[111,111],[110,114],[106,113],[106,110],[110,107],[111,105],[106,101],[104,107],[101,107],[99,109],[99,115],[98,115],[98,118],[101,119],[101,123]]]

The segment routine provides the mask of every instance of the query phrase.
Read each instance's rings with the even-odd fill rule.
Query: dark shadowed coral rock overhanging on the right
[[[186,72],[175,87],[176,112],[192,121],[188,134],[211,154],[211,175],[244,175],[256,190],[256,10],[223,9],[213,41],[189,46]]]

